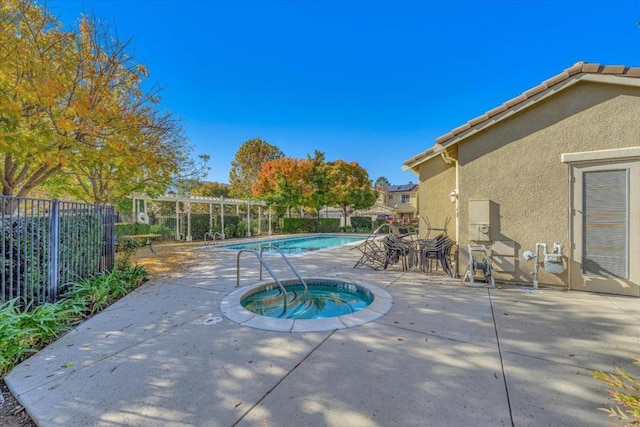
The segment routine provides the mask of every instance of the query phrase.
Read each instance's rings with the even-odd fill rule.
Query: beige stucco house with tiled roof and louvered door
[[[419,176],[420,215],[452,218],[459,274],[474,243],[497,280],[532,283],[523,253],[557,242],[563,271],[540,248],[540,284],[640,296],[640,68],[577,63],[403,168]]]

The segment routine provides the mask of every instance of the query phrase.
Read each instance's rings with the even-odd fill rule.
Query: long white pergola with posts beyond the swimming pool
[[[204,196],[181,196],[177,194],[167,194],[159,197],[149,197],[146,194],[134,194],[131,196],[133,213],[138,216],[138,213],[144,213],[148,218],[147,202],[174,202],[176,204],[176,222],[180,221],[180,214],[187,214],[187,235],[186,240],[192,241],[191,236],[191,205],[194,203],[202,203],[209,205],[209,229],[213,229],[213,206],[220,206],[220,224],[221,229],[224,230],[224,207],[232,205],[236,207],[238,216],[240,215],[240,206],[247,206],[247,221],[251,220],[250,207],[258,207],[258,234],[262,234],[262,208],[267,206],[267,203],[262,200],[250,200],[250,199],[228,199],[225,197],[204,197]],[[185,206],[184,212],[180,211],[180,203]],[[272,234],[271,230],[271,208],[268,211],[269,215],[269,234]],[[224,232],[221,233],[224,239]],[[251,227],[247,227],[247,237],[251,237]],[[176,240],[180,240],[180,234],[176,228]]]

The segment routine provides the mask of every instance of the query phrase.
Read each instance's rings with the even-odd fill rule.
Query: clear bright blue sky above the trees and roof
[[[48,0],[95,14],[182,120],[208,179],[240,145],[318,149],[373,180],[577,61],[640,66],[640,1]]]

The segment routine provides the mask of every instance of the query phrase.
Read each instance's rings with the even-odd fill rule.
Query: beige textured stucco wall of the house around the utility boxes
[[[516,243],[516,272],[496,277],[531,282],[533,263],[522,260],[523,251],[534,250],[536,242],[559,242],[568,253],[568,166],[561,163],[561,154],[639,145],[640,89],[596,83],[565,89],[460,142],[460,273],[468,262],[469,199],[491,201],[492,240]],[[421,187],[442,183],[443,193],[453,188],[438,174],[429,176],[433,171],[425,166]],[[430,204],[425,198],[421,212],[423,204]],[[553,275],[541,269],[539,280],[568,284],[566,271]]]

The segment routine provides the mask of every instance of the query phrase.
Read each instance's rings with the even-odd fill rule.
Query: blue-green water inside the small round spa
[[[275,283],[257,288],[240,302],[252,313],[279,319],[324,319],[355,313],[374,299],[366,288],[342,280],[309,279],[308,291],[298,281],[285,281],[286,304]]]

